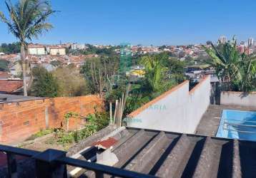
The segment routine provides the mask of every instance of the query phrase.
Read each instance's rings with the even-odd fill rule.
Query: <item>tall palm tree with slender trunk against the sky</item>
[[[0,11],[0,20],[6,23],[9,32],[13,33],[21,43],[21,61],[24,82],[24,95],[27,95],[26,86],[26,62],[27,41],[38,38],[44,31],[52,28],[46,20],[55,11],[51,10],[49,1],[44,0],[20,0],[15,5],[11,0],[5,1],[9,19]]]

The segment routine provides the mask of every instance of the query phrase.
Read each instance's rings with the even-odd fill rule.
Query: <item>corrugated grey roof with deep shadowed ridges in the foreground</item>
[[[134,128],[122,132],[110,148],[118,159],[114,167],[156,177],[256,177],[256,142]]]

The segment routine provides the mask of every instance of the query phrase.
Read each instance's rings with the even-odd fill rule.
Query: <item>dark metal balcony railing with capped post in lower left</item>
[[[7,157],[8,177],[19,177],[17,175],[17,160],[16,155],[30,157],[35,160],[35,174],[36,177],[67,177],[67,165],[74,167],[81,167],[83,169],[91,170],[95,173],[95,177],[104,177],[104,174],[113,177],[127,177],[139,178],[154,177],[152,175],[141,174],[137,172],[119,169],[116,167],[109,167],[94,162],[87,162],[81,159],[74,159],[66,157],[67,152],[59,150],[46,150],[38,152],[33,150],[26,150],[18,147],[9,147],[0,145],[0,152],[5,152]]]

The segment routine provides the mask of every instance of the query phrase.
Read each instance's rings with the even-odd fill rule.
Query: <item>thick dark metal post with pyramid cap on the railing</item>
[[[46,150],[36,155],[36,177],[62,178],[67,177],[67,166],[57,162],[56,159],[65,157],[67,152],[59,150]]]

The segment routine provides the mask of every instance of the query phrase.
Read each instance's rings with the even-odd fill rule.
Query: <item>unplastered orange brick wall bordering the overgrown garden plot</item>
[[[13,144],[26,140],[32,134],[47,127],[65,125],[64,114],[77,112],[87,116],[96,107],[101,110],[103,101],[97,95],[72,98],[46,98],[18,103],[0,104],[0,143]],[[79,121],[79,125],[82,124]],[[74,129],[75,119],[69,120],[69,128]]]

